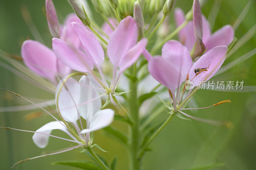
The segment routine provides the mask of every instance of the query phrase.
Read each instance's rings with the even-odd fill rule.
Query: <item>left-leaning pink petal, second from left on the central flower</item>
[[[72,22],[72,26],[83,45],[84,52],[96,66],[100,67],[101,63],[104,61],[104,51],[100,42],[93,33],[83,25],[77,22]]]

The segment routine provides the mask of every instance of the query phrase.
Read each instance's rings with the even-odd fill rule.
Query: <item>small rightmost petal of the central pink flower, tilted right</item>
[[[132,64],[134,64],[137,61],[137,59],[140,57],[140,55],[146,48],[147,44],[148,44],[148,40],[144,38],[140,40],[138,44],[133,46],[127,52],[126,55],[124,55],[124,57],[120,60],[120,63],[118,63],[120,72],[123,72],[124,70],[129,68]]]

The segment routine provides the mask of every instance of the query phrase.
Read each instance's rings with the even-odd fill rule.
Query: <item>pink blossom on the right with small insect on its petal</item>
[[[183,89],[183,86],[181,87],[181,85],[184,81],[189,80],[193,82],[193,85],[200,86],[202,82],[212,78],[212,76],[220,69],[226,55],[227,47],[217,46],[207,51],[195,63],[193,63],[188,48],[182,45],[179,41],[170,40],[164,44],[162,48],[162,56],[154,58],[151,56],[148,62],[148,70],[153,78],[168,88],[172,107],[167,106],[167,104],[166,106],[172,110],[171,113],[178,113],[177,115],[179,117],[179,113],[181,113],[202,122],[208,122],[216,125],[220,124],[219,122],[196,118],[182,112],[181,110],[185,109],[183,108],[186,106],[185,103],[198,88],[193,92],[193,88],[190,89],[187,92],[187,96],[182,101],[185,93],[185,86]],[[197,68],[207,68],[207,70],[195,73],[195,69]],[[222,101],[222,103],[224,102],[230,102],[230,100]],[[216,106],[216,104],[213,106]]]

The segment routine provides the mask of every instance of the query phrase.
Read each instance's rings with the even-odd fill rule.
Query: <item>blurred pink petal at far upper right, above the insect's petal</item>
[[[230,25],[223,26],[215,31],[206,41],[205,48],[210,50],[216,46],[229,46],[234,39],[234,29]]]

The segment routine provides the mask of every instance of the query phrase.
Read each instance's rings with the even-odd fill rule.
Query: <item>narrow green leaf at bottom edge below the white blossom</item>
[[[76,161],[76,160],[57,161],[57,162],[52,162],[52,165],[67,165],[67,166],[73,166],[76,168],[86,169],[86,170],[102,170],[99,166],[89,161]]]

